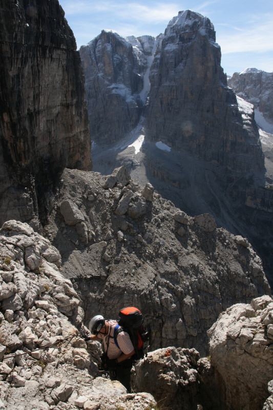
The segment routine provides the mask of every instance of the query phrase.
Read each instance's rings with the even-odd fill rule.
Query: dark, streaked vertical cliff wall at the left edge
[[[0,14],[0,222],[37,229],[56,170],[91,169],[80,57],[57,0],[6,0]]]

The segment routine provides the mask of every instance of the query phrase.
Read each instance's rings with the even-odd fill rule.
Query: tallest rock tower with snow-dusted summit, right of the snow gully
[[[150,72],[147,137],[233,172],[262,170],[257,128],[243,127],[209,19],[179,12],[157,53]]]

